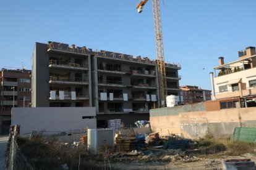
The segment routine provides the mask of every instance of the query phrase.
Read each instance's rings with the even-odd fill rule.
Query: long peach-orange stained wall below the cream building
[[[161,108],[164,110],[164,108]],[[220,111],[190,111],[161,115],[161,110],[150,110],[150,125],[153,132],[160,132],[161,136],[169,133],[183,134],[187,138],[229,137],[235,127],[256,127],[256,108],[233,108]]]

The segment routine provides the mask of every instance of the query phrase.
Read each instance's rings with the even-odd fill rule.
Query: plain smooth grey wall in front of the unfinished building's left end
[[[32,131],[96,129],[95,107],[32,107],[12,109],[12,125],[20,125],[20,135]]]

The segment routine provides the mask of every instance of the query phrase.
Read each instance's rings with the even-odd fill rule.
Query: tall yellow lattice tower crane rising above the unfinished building
[[[142,12],[143,6],[147,2],[148,0],[141,0],[139,4],[137,4],[136,8],[138,9],[139,13]],[[152,0],[152,6],[153,6],[153,18],[154,18],[154,26],[155,26],[156,56],[157,56],[160,100],[161,100],[161,107],[164,107],[165,100],[166,100],[165,98],[167,96],[167,86],[166,86],[166,72],[165,72],[165,65],[164,65],[160,0]]]

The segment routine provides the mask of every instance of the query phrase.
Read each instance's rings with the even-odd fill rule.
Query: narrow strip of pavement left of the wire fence
[[[9,136],[0,136],[0,169],[6,169],[6,149]]]

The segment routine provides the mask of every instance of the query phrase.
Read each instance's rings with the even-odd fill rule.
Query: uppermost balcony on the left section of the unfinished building
[[[88,70],[88,66],[79,63],[59,63],[57,60],[49,60],[49,68],[61,68],[67,70]]]

